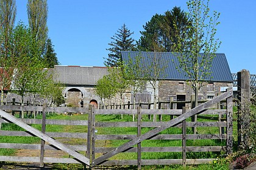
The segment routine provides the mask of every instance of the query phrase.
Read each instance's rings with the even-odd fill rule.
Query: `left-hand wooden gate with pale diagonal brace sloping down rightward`
[[[19,144],[19,143],[0,143],[0,148],[11,148],[11,149],[40,149],[40,157],[16,157],[16,156],[0,156],[0,161],[21,161],[21,162],[36,162],[40,163],[40,166],[44,166],[44,163],[82,163],[84,165],[90,165],[90,159],[85,157],[85,155],[80,154],[77,151],[84,150],[85,148],[79,146],[67,146],[66,144],[61,143],[58,140],[55,140],[52,137],[71,137],[69,133],[57,133],[50,132],[46,134],[46,123],[48,124],[69,124],[69,125],[86,125],[87,121],[68,121],[68,120],[47,120],[46,122],[46,111],[47,112],[85,112],[84,108],[68,108],[68,107],[47,107],[46,106],[1,106],[1,109],[4,110],[27,110],[27,111],[41,111],[43,114],[42,119],[19,119],[13,115],[0,110],[0,122],[1,123],[15,123],[16,125],[22,127],[26,131],[1,131],[1,135],[7,136],[34,136],[41,138],[41,144]],[[87,109],[88,110],[88,109]],[[29,124],[42,124],[41,131],[35,129]],[[51,136],[50,136],[51,135]],[[84,138],[87,138],[87,134],[74,134],[77,138],[80,138],[80,135],[84,135]],[[44,157],[44,147],[45,142],[48,142],[48,149],[58,149],[64,151],[71,155],[73,158],[55,158],[55,157]],[[74,148],[74,149],[73,149]],[[77,149],[80,148],[80,149]]]

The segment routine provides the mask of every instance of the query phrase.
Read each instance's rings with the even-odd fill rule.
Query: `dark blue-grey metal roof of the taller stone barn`
[[[135,56],[140,55],[143,66],[146,67],[145,63],[152,62],[152,58],[156,55],[155,52],[121,52],[122,58],[124,62],[129,60],[130,58],[135,58]],[[168,66],[165,69],[165,73],[160,76],[160,80],[188,80],[185,72],[179,72],[176,69],[176,66],[179,66],[179,61],[177,57],[171,52],[157,52],[157,55],[160,55],[162,63],[166,63],[168,61]],[[161,62],[160,62],[161,63]],[[211,67],[212,75],[211,78],[205,78],[208,81],[220,81],[220,82],[233,82],[232,75],[229,69],[229,64],[227,63],[227,59],[224,53],[216,53],[216,57],[213,59],[212,67]]]

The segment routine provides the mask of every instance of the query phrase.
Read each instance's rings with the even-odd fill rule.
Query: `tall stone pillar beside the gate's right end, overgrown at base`
[[[251,92],[250,92],[250,73],[248,70],[241,70],[237,73],[237,90],[238,90],[238,146],[248,146],[249,140],[249,126],[250,126],[250,106],[251,106]]]

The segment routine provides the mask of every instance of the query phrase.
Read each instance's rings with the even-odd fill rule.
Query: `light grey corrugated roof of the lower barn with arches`
[[[96,85],[107,75],[107,67],[54,66],[57,81],[63,84]]]

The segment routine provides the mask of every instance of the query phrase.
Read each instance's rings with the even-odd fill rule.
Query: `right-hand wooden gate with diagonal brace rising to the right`
[[[188,160],[186,159],[186,152],[190,151],[195,151],[195,152],[207,152],[207,151],[226,151],[227,154],[232,153],[232,132],[233,132],[233,125],[232,125],[232,95],[233,91],[231,88],[227,90],[226,93],[219,95],[218,97],[213,98],[213,100],[209,100],[204,104],[201,104],[194,109],[188,110],[188,112],[185,112],[183,110],[183,114],[177,114],[180,110],[171,110],[171,109],[156,109],[156,110],[148,110],[148,109],[140,109],[138,110],[110,110],[110,109],[104,109],[104,110],[99,110],[99,109],[91,109],[91,112],[89,114],[90,118],[90,132],[88,131],[88,135],[91,137],[90,141],[90,147],[87,151],[87,157],[90,157],[91,160],[91,167],[94,167],[96,165],[138,165],[138,169],[140,169],[141,165],[171,165],[171,164],[198,164],[198,163],[208,163],[209,161],[212,161],[213,159],[194,159],[194,160]],[[223,110],[214,110],[211,109],[211,107],[215,104],[218,104],[222,100],[226,100],[226,109],[224,110],[226,114],[226,120],[219,121],[217,120],[216,122],[187,122],[186,119],[193,117],[194,115],[198,114],[207,114],[209,112],[222,112]],[[137,113],[136,113],[137,112]],[[107,124],[106,122],[95,122],[95,115],[97,114],[137,114],[138,115],[138,122],[137,126],[135,123],[130,123],[130,122],[110,122],[110,124]],[[167,122],[155,122],[155,128],[152,129],[151,131],[146,132],[145,134],[141,135],[141,130],[140,128],[142,126],[147,126],[147,124],[150,124],[150,122],[144,122],[141,123],[140,115],[141,114],[167,114],[167,115],[179,115],[176,118],[169,120]],[[218,118],[218,117],[217,117]],[[152,122],[153,123],[153,122]],[[96,135],[95,132],[97,131],[96,127],[120,127],[120,125],[123,125],[122,127],[138,127],[138,135],[137,137],[130,137],[129,135]],[[226,134],[204,134],[204,135],[199,135],[199,134],[190,134],[187,135],[186,129],[187,125],[190,125],[190,127],[205,127],[205,126],[216,126],[219,127],[220,129],[224,129],[226,127]],[[181,125],[181,126],[179,126]],[[151,126],[152,127],[152,126]],[[165,129],[169,127],[182,127],[183,129],[183,134],[180,135],[169,135],[168,137],[163,137],[159,135],[158,133],[164,131]],[[220,131],[223,132],[223,131]],[[111,151],[104,152],[103,155],[99,156],[96,158],[96,152],[99,152],[99,150],[102,151],[102,148],[96,148],[95,143],[96,140],[106,140],[106,138],[109,138],[110,140],[115,140],[115,139],[123,139],[123,140],[130,140],[127,143],[124,143],[123,145],[119,146],[118,148],[112,148]],[[226,146],[203,146],[203,147],[191,147],[191,146],[186,146],[186,138],[190,139],[224,139],[226,140]],[[141,160],[141,142],[144,140],[151,140],[151,139],[177,139],[177,140],[182,140],[182,148],[176,147],[176,148],[162,148],[161,150],[158,150],[160,152],[163,152],[163,150],[166,149],[165,152],[182,152],[182,160]],[[137,148],[134,147],[134,145],[137,144]],[[144,150],[146,151],[146,150]],[[137,152],[138,158],[137,160],[110,160],[109,158],[115,156],[116,154],[119,154],[121,152]],[[152,152],[157,152],[156,149],[155,151]]]

